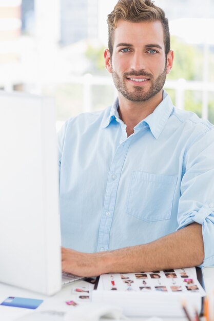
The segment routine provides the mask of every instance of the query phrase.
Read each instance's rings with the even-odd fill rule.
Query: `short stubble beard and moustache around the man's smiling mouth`
[[[126,87],[126,77],[127,76],[145,76],[149,78],[150,88],[148,91],[145,91],[143,86],[133,86],[133,91],[129,91]],[[112,70],[112,78],[114,86],[116,89],[129,101],[131,102],[145,102],[148,99],[155,96],[158,92],[163,89],[163,86],[166,81],[166,66],[164,71],[156,78],[153,79],[152,74],[146,73],[144,71],[131,71],[126,72],[123,75],[123,79],[120,78],[118,73]]]

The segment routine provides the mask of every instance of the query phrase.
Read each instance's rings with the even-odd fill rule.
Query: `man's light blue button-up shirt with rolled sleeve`
[[[175,108],[164,92],[127,137],[118,107],[117,99],[71,118],[59,133],[62,245],[113,250],[198,222],[203,265],[213,265],[214,126]]]

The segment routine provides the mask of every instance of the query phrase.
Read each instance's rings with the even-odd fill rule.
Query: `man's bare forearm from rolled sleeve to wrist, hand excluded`
[[[101,273],[157,271],[202,264],[202,226],[193,223],[154,242],[109,251],[98,256]]]

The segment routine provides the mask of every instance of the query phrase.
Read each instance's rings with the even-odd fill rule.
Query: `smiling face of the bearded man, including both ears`
[[[120,20],[114,30],[112,57],[106,50],[105,59],[119,95],[132,102],[144,102],[160,94],[173,55],[169,52],[166,59],[160,21]]]

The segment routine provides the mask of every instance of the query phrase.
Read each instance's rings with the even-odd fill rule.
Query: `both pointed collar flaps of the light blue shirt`
[[[119,113],[119,101],[116,98],[114,104],[112,105],[110,112],[109,109],[106,110],[102,121],[102,128],[107,127],[114,119],[116,121],[121,122]],[[166,122],[172,112],[173,104],[171,102],[171,98],[167,94],[167,92],[163,91],[163,100],[162,102],[154,109],[154,111],[148,115],[145,119],[143,119],[134,129],[140,129],[146,124],[148,124],[152,135],[158,139],[162,130],[164,129]]]

